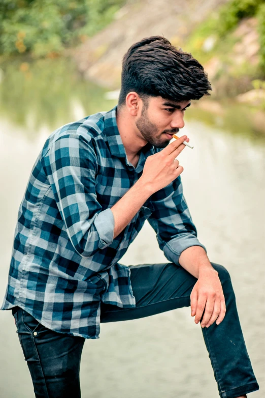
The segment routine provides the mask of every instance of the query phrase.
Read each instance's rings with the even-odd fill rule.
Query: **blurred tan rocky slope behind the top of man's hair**
[[[173,45],[179,46],[194,26],[226,2],[227,0],[128,1],[106,29],[74,51],[74,58],[86,78],[104,87],[117,89],[120,87],[122,56],[133,43],[145,37],[162,35]],[[215,62],[211,67],[217,68],[218,63]]]

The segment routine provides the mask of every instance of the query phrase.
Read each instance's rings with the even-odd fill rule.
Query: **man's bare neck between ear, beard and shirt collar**
[[[125,110],[117,109],[116,122],[124,145],[126,155],[134,158],[139,151],[147,144],[147,141],[141,136],[140,131],[135,125],[135,120]]]

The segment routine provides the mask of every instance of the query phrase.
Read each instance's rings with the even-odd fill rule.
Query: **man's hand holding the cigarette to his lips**
[[[148,156],[145,161],[143,174],[140,177],[146,186],[154,193],[174,181],[183,172],[176,157],[186,147],[183,141],[189,141],[186,135],[175,139],[162,151]]]

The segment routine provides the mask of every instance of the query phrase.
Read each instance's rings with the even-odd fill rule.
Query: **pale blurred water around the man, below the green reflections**
[[[89,96],[93,98],[91,91]],[[100,98],[98,93],[94,96]],[[61,124],[77,120],[83,113],[89,115],[84,101],[72,101],[72,113],[64,116]],[[90,113],[113,106],[111,101],[102,100],[102,106]],[[11,113],[6,115],[0,122],[0,301],[7,284],[17,212],[30,170],[47,136],[60,126],[58,120],[53,120],[47,127],[44,118],[36,128],[34,115],[21,124],[13,120]],[[246,346],[260,385],[260,390],[250,396],[261,398],[265,387],[264,140],[254,141],[244,132],[235,136],[192,120],[186,122],[182,132],[194,145],[179,156],[184,166],[184,194],[210,260],[230,272]],[[165,261],[155,233],[146,222],[120,262],[136,265]],[[1,311],[0,320],[0,396],[33,398],[11,311]],[[80,377],[82,398],[106,394],[109,398],[219,396],[200,324],[194,324],[189,308],[102,324],[100,339],[85,342]]]

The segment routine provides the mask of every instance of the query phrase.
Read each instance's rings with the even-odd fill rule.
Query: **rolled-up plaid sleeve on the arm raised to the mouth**
[[[56,139],[42,159],[65,230],[75,250],[90,257],[114,237],[111,209],[102,210],[96,197],[97,158],[82,135]]]

